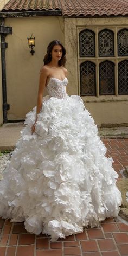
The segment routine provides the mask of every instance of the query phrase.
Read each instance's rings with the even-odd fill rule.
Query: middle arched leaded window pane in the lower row
[[[99,65],[100,95],[113,95],[114,91],[114,63],[103,61]]]

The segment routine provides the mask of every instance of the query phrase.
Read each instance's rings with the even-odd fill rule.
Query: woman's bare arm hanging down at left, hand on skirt
[[[46,86],[46,81],[47,81],[48,75],[49,75],[48,68],[43,67],[40,71],[39,90],[38,90],[37,107],[36,107],[36,119],[35,119],[34,125],[31,127],[32,134],[35,131],[35,124],[36,124],[36,121],[37,121],[37,115],[41,111],[43,92],[44,92],[44,88]]]

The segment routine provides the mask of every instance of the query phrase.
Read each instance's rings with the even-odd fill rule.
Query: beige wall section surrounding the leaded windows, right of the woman
[[[79,30],[104,26],[104,28],[128,28],[128,18],[66,18],[65,46],[67,49],[67,69],[69,72],[69,94],[79,94]],[[116,37],[115,37],[116,38]],[[114,58],[113,58],[114,59]],[[127,57],[125,58],[127,59]],[[117,78],[117,75],[116,75]],[[98,82],[98,81],[97,81]],[[117,82],[117,80],[116,80]],[[128,123],[128,95],[110,95],[100,97],[82,97],[86,108],[91,112],[97,124]]]

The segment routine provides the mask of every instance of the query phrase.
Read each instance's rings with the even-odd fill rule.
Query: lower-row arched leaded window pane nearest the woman
[[[96,95],[95,64],[91,61],[80,65],[80,94]]]

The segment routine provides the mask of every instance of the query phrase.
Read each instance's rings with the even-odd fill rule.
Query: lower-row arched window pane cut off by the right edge
[[[118,64],[118,93],[128,94],[128,60]]]

